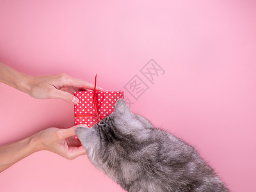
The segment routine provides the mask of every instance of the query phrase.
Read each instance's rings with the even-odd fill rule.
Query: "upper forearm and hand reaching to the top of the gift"
[[[8,84],[36,99],[63,99],[77,104],[79,99],[73,95],[77,91],[93,90],[94,85],[67,74],[31,77],[0,63],[0,82]],[[96,87],[97,91],[103,91]]]

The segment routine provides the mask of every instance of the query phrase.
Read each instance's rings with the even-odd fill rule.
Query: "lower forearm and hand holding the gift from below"
[[[76,125],[69,129],[58,129],[55,127],[0,146],[0,173],[17,163],[21,159],[38,152],[49,150],[67,159],[75,159],[86,154],[86,150],[79,140],[75,139]]]

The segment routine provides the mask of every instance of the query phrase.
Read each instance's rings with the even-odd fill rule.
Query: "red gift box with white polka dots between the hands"
[[[74,107],[75,124],[87,124],[88,127],[97,124],[97,117],[93,104],[93,91],[75,92],[74,95],[79,99],[79,103]],[[100,118],[110,115],[115,109],[116,100],[120,98],[124,99],[124,92],[96,92]]]

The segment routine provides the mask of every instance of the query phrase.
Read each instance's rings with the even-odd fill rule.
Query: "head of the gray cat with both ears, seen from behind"
[[[148,140],[152,129],[146,118],[132,113],[125,101],[118,99],[113,113],[92,128],[77,127],[76,134],[92,163],[101,168],[106,159],[127,156],[136,150]]]

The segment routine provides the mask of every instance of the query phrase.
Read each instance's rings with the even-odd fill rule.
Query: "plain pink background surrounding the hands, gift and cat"
[[[191,143],[231,191],[256,191],[255,1],[0,1],[0,61],[67,73],[105,90],[138,74],[131,109]],[[151,84],[153,58],[165,74]],[[0,145],[74,125],[73,106],[0,84]],[[125,91],[125,90],[124,90]],[[0,191],[123,191],[86,156],[37,152],[0,173]]]

